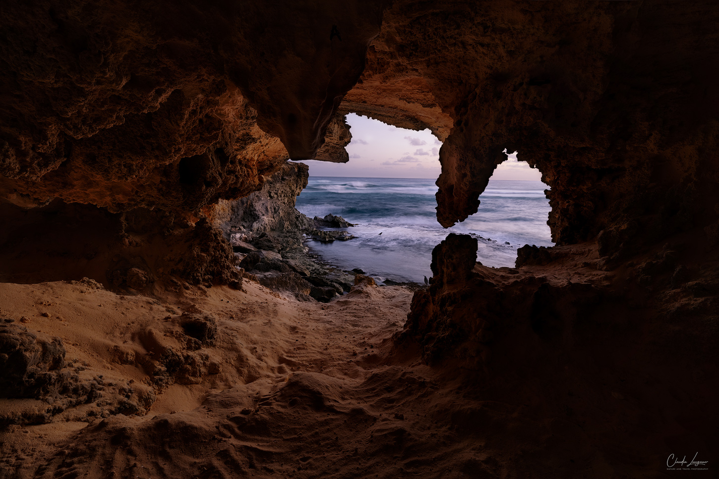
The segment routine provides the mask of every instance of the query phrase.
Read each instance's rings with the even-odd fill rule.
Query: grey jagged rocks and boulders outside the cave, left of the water
[[[280,171],[265,178],[262,190],[239,200],[220,202],[214,211],[214,223],[232,246],[244,278],[302,301],[329,302],[369,279],[362,269],[343,270],[329,264],[308,246],[311,241],[355,238],[339,229],[354,226],[341,216],[328,214],[311,219],[296,210],[296,198],[307,186],[308,177],[306,164],[287,162]],[[412,291],[423,288],[391,280],[377,284],[404,286]]]

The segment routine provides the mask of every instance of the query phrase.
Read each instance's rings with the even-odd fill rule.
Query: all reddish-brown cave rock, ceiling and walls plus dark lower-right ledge
[[[718,21],[710,1],[4,1],[0,279],[239,287],[221,200],[288,158],[347,161],[347,112],[444,142],[445,226],[517,150],[557,246],[495,270],[447,238],[397,354],[549,424],[503,456],[517,470],[570,450],[548,475],[659,475],[665,453],[719,450]]]

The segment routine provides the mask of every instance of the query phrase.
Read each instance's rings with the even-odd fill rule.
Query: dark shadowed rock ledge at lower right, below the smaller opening
[[[429,289],[414,294],[400,350],[418,344],[436,368],[474,371],[483,397],[567,424],[552,454],[608,458],[615,475],[633,467],[612,456],[616,445],[645,457],[648,471],[661,465],[654,450],[717,447],[707,394],[719,360],[713,270],[678,266],[692,260],[686,249],[658,248],[612,271],[592,244],[543,252],[520,268],[487,268],[475,263],[474,238],[449,235],[434,249]],[[681,398],[677,377],[693,378]],[[686,408],[708,422],[685,422]]]

